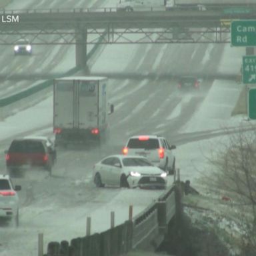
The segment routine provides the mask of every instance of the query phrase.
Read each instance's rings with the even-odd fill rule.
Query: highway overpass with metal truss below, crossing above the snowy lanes
[[[255,13],[211,11],[121,12],[116,9],[31,9],[0,12],[1,45],[19,38],[38,44],[76,45],[77,66],[86,65],[88,44],[229,43],[230,23]]]

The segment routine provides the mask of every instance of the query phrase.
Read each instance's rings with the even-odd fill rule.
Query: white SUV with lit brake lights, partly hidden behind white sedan
[[[153,165],[169,174],[173,174],[175,171],[173,149],[176,149],[176,146],[170,146],[164,137],[137,135],[128,139],[122,153],[123,155],[141,155],[147,157]]]

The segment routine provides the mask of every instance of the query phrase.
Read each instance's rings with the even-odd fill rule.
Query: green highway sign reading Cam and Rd
[[[256,20],[232,21],[231,45],[256,46]]]

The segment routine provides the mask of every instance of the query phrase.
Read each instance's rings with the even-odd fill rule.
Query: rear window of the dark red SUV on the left
[[[41,141],[25,140],[13,141],[9,153],[44,153]]]

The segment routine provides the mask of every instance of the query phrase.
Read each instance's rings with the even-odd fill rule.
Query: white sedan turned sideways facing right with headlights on
[[[165,188],[167,173],[152,165],[145,157],[110,155],[94,165],[93,181],[97,187]]]

